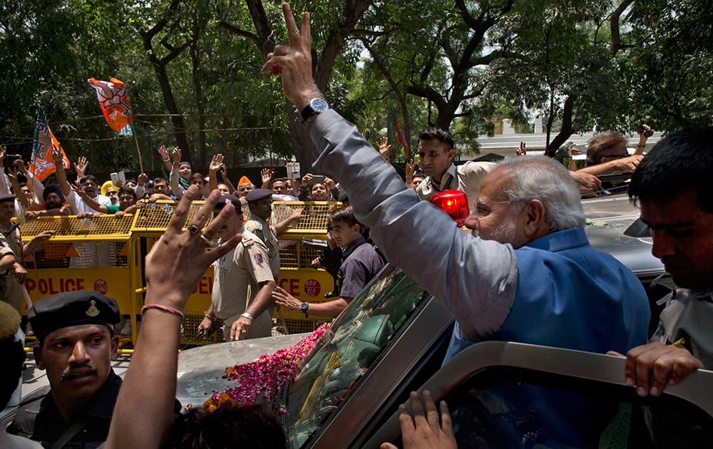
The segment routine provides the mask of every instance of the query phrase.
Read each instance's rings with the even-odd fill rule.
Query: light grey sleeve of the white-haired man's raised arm
[[[498,331],[517,289],[513,248],[462,232],[444,212],[419,200],[334,110],[319,114],[311,134],[322,152],[314,167],[339,180],[386,259],[442,301],[466,338]]]

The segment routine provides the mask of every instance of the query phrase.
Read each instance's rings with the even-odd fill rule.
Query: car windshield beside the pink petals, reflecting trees
[[[356,295],[289,388],[285,426],[292,448],[301,447],[339,408],[427,296],[391,266]]]

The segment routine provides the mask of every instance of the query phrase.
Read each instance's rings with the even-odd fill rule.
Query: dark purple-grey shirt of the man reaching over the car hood
[[[384,261],[364,237],[354,240],[344,251],[344,262],[339,267],[339,296],[354,298],[376,276]]]

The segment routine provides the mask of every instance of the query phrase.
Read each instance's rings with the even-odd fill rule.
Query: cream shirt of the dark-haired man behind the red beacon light
[[[486,175],[495,170],[497,167],[493,162],[468,162],[458,165],[451,164],[443,173],[441,183],[436,184],[434,179],[427,176],[419,187],[416,187],[416,193],[419,194],[421,200],[429,200],[433,195],[442,190],[461,190],[468,197],[468,204],[478,200],[478,191],[481,189],[481,182]]]

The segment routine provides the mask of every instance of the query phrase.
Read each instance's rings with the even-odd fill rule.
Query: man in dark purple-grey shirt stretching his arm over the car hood
[[[344,251],[342,265],[339,267],[339,298],[322,303],[299,301],[287,290],[277,287],[272,293],[278,305],[291,311],[302,311],[305,318],[309,315],[337,316],[342,313],[354,296],[371,281],[384,267],[384,261],[374,247],[361,235],[361,224],[354,217],[352,207],[339,209],[329,215],[327,225],[334,243]]]

